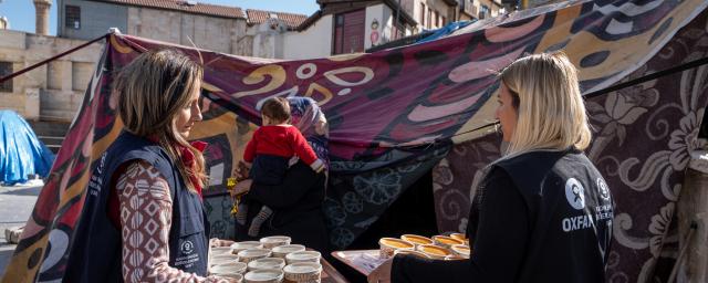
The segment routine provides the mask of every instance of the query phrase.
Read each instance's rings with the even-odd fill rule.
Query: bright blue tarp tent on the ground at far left
[[[54,154],[27,120],[13,111],[0,111],[0,182],[27,182],[34,174],[46,177],[52,163]]]

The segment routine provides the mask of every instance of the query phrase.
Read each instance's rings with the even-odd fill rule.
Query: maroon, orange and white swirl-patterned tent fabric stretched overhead
[[[473,149],[479,158],[470,159],[475,165],[472,168],[456,165],[451,161],[454,158],[440,163],[440,167],[447,163],[448,167],[459,170],[452,176],[473,176],[475,169],[488,163],[494,150],[498,151],[496,144],[487,140],[491,137],[480,139],[487,134],[485,130],[471,130],[493,117],[496,103],[489,99],[498,88],[493,71],[527,53],[564,50],[580,69],[583,92],[601,90],[641,72],[637,70],[653,57],[668,56],[664,53],[657,55],[657,52],[666,49],[677,32],[704,12],[707,4],[700,0],[571,1],[479,21],[456,32],[455,36],[433,42],[371,54],[303,61],[240,57],[128,35],[111,35],[84,103],[52,168],[52,177],[40,195],[3,282],[44,282],[62,277],[65,252],[72,244],[72,231],[81,213],[91,163],[101,156],[122,127],[122,122],[115,116],[115,96],[118,94],[111,92],[112,81],[117,70],[145,50],[166,46],[179,49],[206,66],[201,101],[205,120],[192,135],[196,139],[212,144],[206,155],[210,184],[214,186],[207,193],[212,193],[217,201],[208,203],[208,212],[222,216],[222,219],[228,219],[228,210],[225,212],[227,206],[223,205],[228,203],[227,198],[219,195],[223,191],[223,179],[241,158],[250,134],[260,124],[258,113],[261,103],[273,96],[306,96],[317,101],[330,122],[331,177],[325,213],[332,243],[335,248],[344,248],[366,230],[407,186],[440,159],[460,155],[465,146],[480,148],[482,151]],[[600,114],[612,109],[606,113],[610,119],[626,123],[628,118],[623,119],[622,114],[627,107],[627,99],[635,98],[611,97],[600,96],[593,102],[597,102],[601,106],[623,106],[605,109],[591,106],[590,109]],[[694,107],[690,111],[695,109],[693,117],[696,119],[698,109],[705,107],[705,101],[688,99],[681,105]],[[642,111],[627,109],[632,115],[637,112]],[[596,117],[607,120],[600,114]],[[684,124],[690,125],[690,120]],[[650,119],[649,123],[653,124],[645,126],[652,128],[654,136],[668,135],[677,129],[662,120]],[[626,135],[622,139],[625,138],[629,140]],[[625,142],[623,145],[652,153],[642,147],[643,142],[634,137],[632,140],[635,144]],[[669,143],[669,147],[674,144]],[[596,157],[602,158],[604,151],[597,150]],[[660,158],[671,156],[668,154],[656,158],[664,160]],[[605,176],[621,176],[621,182],[613,184],[618,188],[628,186],[625,180],[629,184],[638,180],[635,174],[639,169],[636,168],[656,165],[653,160],[626,159],[627,172],[617,171],[617,167],[611,165],[601,166],[601,169]],[[639,161],[645,165],[638,165]],[[440,167],[436,169],[437,174]],[[658,171],[650,168],[642,171],[654,177],[649,180],[660,176],[663,181],[677,184],[677,175],[666,172],[665,167]],[[626,178],[622,177],[623,174],[626,174]],[[435,187],[436,195],[446,190],[462,191],[465,195],[465,189],[469,190],[470,187],[469,182],[461,182],[466,188],[438,185]],[[644,195],[626,197],[656,198],[657,193],[663,193],[646,191],[648,187],[645,186],[638,188],[643,189]],[[673,192],[667,196],[674,198],[676,187],[669,188],[671,190],[666,193]],[[618,202],[621,206],[631,206],[634,201],[637,200]],[[438,203],[446,205],[448,202],[445,201]],[[438,211],[441,209],[445,208]],[[452,217],[457,220],[449,221],[459,223],[466,212],[464,206],[457,209],[460,212]],[[623,208],[618,210],[623,211]],[[633,217],[627,216],[629,219]],[[617,218],[617,227],[625,231],[633,229],[632,222],[626,220],[627,216],[621,213]],[[217,229],[214,226],[218,226]],[[212,231],[219,235],[226,234],[229,229],[227,226],[228,221],[216,221]],[[444,221],[440,228],[454,230]],[[636,233],[656,231],[666,235],[666,229],[660,230],[655,226],[634,229],[638,231]],[[634,233],[632,230],[624,234]],[[629,239],[634,238],[629,235]],[[664,237],[658,240],[652,238],[642,240],[637,245],[663,240]],[[618,251],[627,252],[622,249]],[[628,259],[623,256],[621,254],[618,259]],[[613,265],[620,266],[612,269],[622,274],[611,273],[610,276],[636,279],[645,274],[643,270],[656,268],[656,264],[647,263],[637,269],[637,259],[628,259],[629,264],[622,262]]]

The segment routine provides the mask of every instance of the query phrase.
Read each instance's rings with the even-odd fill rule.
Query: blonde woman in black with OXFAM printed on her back
[[[496,115],[509,146],[470,211],[471,259],[397,255],[369,282],[605,281],[613,201],[582,153],[591,132],[575,67],[563,53],[538,54],[499,77]]]

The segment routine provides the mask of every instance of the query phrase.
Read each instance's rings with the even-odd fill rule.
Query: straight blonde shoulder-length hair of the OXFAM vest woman
[[[564,53],[519,59],[499,76],[519,102],[508,156],[534,149],[587,148],[592,134],[577,84],[577,70]]]

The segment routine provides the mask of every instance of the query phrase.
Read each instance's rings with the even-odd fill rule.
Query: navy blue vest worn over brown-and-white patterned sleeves
[[[86,200],[70,247],[64,282],[123,282],[121,231],[108,218],[107,201],[114,171],[121,165],[138,159],[154,166],[169,184],[173,199],[169,266],[206,276],[209,223],[199,196],[189,192],[159,145],[124,132],[93,165]],[[149,224],[145,228],[149,230]],[[146,247],[149,249],[149,244]]]

